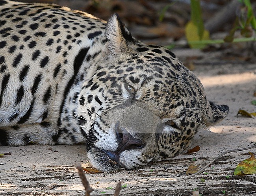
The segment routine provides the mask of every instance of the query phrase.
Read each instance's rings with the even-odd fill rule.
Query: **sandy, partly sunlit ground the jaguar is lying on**
[[[178,155],[169,161],[152,163],[144,168],[129,171],[137,179],[152,182],[142,184],[126,176],[115,174],[86,174],[94,191],[91,195],[113,195],[118,181],[120,195],[178,196],[192,195],[197,188],[206,196],[256,195],[255,175],[234,176],[236,165],[249,158],[249,150],[230,153],[213,163],[206,173],[176,184],[168,181],[187,177],[187,166],[192,159],[210,161],[230,149],[252,146],[256,142],[256,118],[236,116],[239,109],[256,112],[251,100],[256,91],[256,64],[221,59],[221,52],[203,54],[198,50],[175,50],[182,60],[186,56],[202,56],[196,60],[194,72],[202,81],[208,98],[230,107],[230,113],[221,123],[209,130],[201,128],[191,146],[201,150],[193,155]],[[256,152],[256,149],[251,149]],[[0,146],[0,152],[12,155],[0,158],[0,195],[84,195],[82,183],[74,162],[86,163],[84,146]],[[229,176],[229,178],[226,176]],[[200,182],[204,178],[205,182]],[[164,184],[155,183],[165,181]],[[49,184],[52,190],[44,190]],[[104,193],[105,192],[105,193]]]

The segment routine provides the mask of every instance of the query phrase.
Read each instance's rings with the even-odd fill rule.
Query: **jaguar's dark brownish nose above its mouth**
[[[142,149],[145,146],[145,143],[140,139],[137,139],[133,137],[128,131],[120,126],[120,123],[117,122],[115,124],[115,131],[117,134],[117,142],[118,142],[118,148],[115,151],[117,154],[120,154],[124,150],[130,150],[130,149]]]

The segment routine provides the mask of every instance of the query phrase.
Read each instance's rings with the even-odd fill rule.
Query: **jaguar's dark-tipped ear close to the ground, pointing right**
[[[213,102],[208,102],[208,109],[206,111],[205,124],[211,125],[222,120],[228,115],[229,107],[227,105],[217,105]]]

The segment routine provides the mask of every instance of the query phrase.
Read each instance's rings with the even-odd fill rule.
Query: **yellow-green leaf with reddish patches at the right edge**
[[[235,175],[256,174],[256,159],[254,153],[249,152],[251,157],[243,160],[236,166]]]

